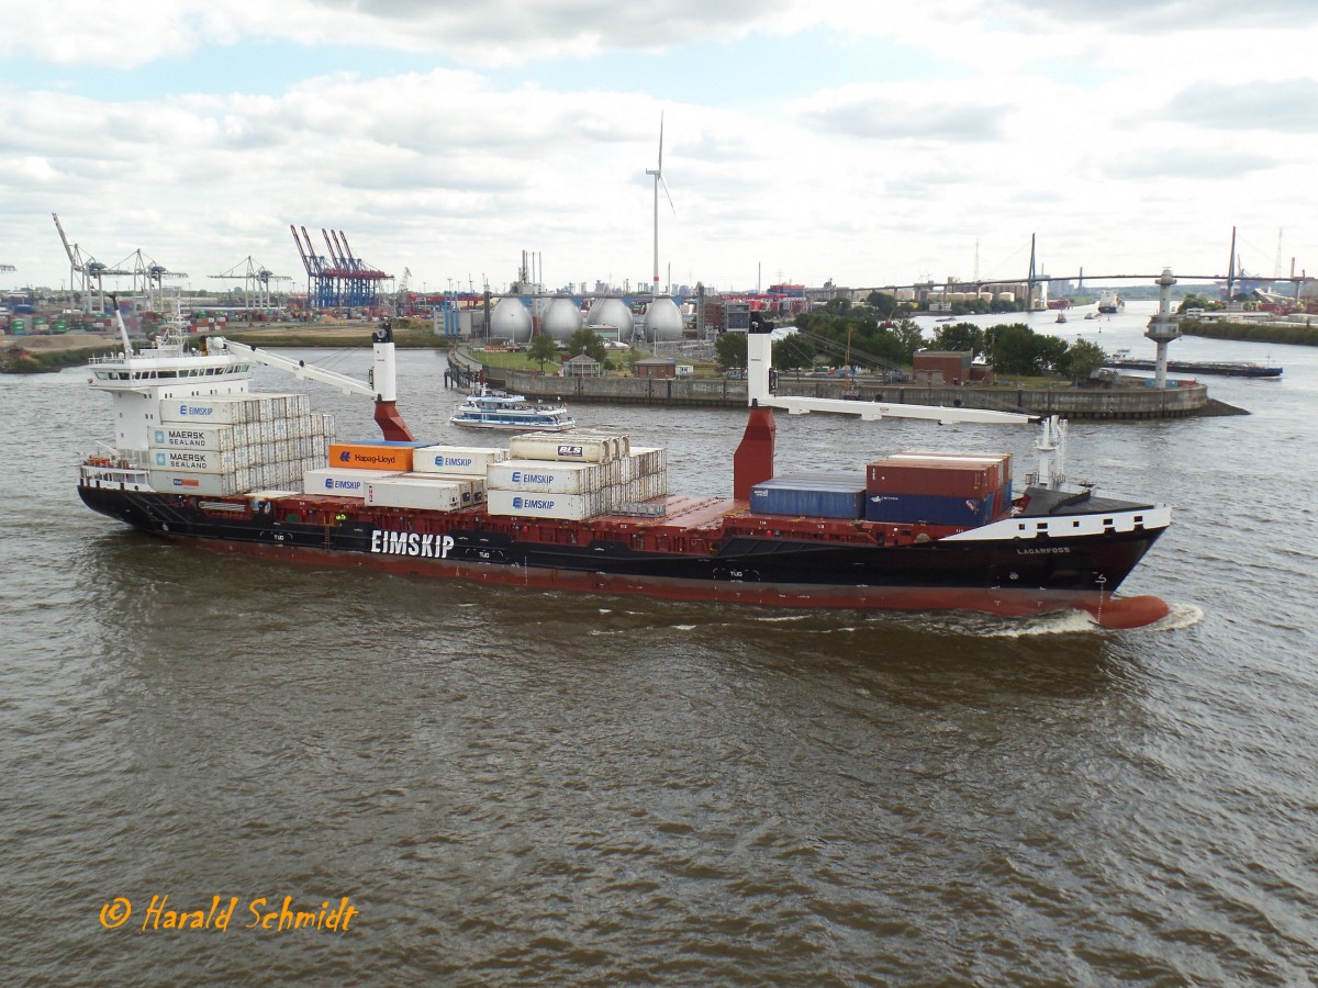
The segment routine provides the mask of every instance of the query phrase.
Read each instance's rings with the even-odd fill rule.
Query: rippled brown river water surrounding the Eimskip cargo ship
[[[1151,308],[1036,328],[1145,352]],[[1126,632],[214,556],[82,507],[83,373],[0,378],[5,981],[1309,983],[1318,350],[1173,353],[1286,373],[1211,379],[1246,416],[1073,425],[1073,477],[1176,510],[1123,588],[1173,617]],[[471,443],[443,366],[402,353],[401,407]],[[575,411],[730,491],[739,412]],[[782,466],[1032,441],[779,418]]]

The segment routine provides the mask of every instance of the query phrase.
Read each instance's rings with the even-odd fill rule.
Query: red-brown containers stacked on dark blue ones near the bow
[[[898,524],[988,524],[1011,505],[1011,457],[898,453],[866,466],[865,518]]]

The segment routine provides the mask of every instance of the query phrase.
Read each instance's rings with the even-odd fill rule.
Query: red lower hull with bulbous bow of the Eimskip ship
[[[672,577],[637,577],[575,569],[422,560],[409,556],[340,552],[294,545],[221,541],[167,535],[212,552],[257,556],[286,563],[376,569],[414,577],[445,577],[505,586],[534,586],[600,594],[641,594],[666,601],[737,603],[770,607],[833,607],[896,611],[978,611],[1021,618],[1060,610],[1090,614],[1099,627],[1135,628],[1165,618],[1170,609],[1157,597],[1112,597],[1085,590],[978,589],[940,586],[826,586],[805,584],[739,584]]]

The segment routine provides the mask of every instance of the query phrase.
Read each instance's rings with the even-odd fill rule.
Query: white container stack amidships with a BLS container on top
[[[513,436],[510,460],[486,468],[492,515],[584,522],[655,514],[645,502],[668,493],[667,451],[631,449],[627,436],[536,432]]]

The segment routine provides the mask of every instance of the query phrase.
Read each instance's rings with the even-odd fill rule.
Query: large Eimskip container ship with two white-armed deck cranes
[[[397,407],[387,324],[372,383],[167,331],[92,360],[116,428],[79,468],[95,511],[228,553],[407,577],[792,609],[1074,609],[1102,627],[1162,618],[1115,591],[1170,523],[1166,506],[1061,482],[1065,423],[1012,412],[774,394],[771,335],[749,333],[750,408],[733,497],[670,493],[663,448],[576,431],[506,447],[416,440]],[[337,441],[306,394],[249,390],[256,364],[374,400],[380,439]],[[1036,423],[1039,470],[1010,456],[904,451],[851,472],[780,474],[774,408],[936,422]]]

